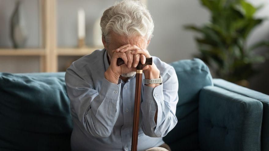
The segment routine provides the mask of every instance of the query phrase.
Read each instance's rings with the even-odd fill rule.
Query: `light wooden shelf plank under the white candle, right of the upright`
[[[101,48],[58,48],[57,55],[58,56],[85,56],[94,52],[94,50]]]

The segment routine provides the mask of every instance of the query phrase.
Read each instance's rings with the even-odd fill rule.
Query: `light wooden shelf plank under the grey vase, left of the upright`
[[[44,56],[45,49],[0,49],[0,56]]]

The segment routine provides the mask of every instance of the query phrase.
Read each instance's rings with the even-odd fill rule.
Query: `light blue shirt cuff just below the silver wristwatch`
[[[164,100],[163,84],[158,85],[155,88],[144,85],[143,101],[157,104]]]

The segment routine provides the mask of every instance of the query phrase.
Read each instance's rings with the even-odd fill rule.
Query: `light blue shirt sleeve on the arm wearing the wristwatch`
[[[174,68],[163,76],[163,84],[155,88],[144,85],[142,96],[142,129],[150,137],[164,137],[177,123],[178,81]],[[157,111],[158,109],[158,111]],[[154,117],[157,111],[157,123]]]

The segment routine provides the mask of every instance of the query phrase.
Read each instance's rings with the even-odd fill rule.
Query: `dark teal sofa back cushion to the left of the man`
[[[70,150],[64,72],[0,73],[0,150]]]

